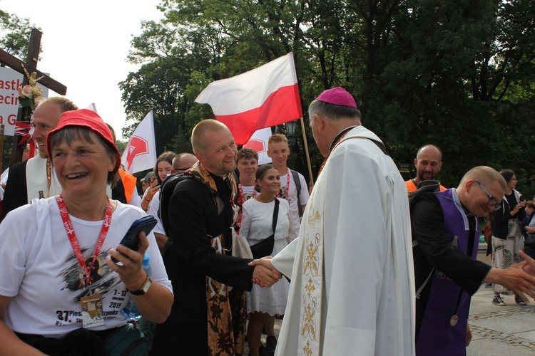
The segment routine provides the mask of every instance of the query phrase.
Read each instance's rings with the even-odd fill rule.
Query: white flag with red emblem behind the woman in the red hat
[[[152,169],[156,165],[156,140],[152,111],[136,127],[136,131],[133,132],[124,149],[121,162],[126,172],[131,174]]]

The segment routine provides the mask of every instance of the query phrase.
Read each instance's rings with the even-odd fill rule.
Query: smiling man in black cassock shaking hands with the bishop
[[[230,326],[235,305],[230,305],[228,286],[250,290],[253,278],[271,286],[280,274],[230,256],[238,186],[233,174],[237,149],[228,127],[203,120],[193,128],[191,145],[199,161],[176,184],[168,209],[173,244],[164,262],[175,303],[156,329],[155,351],[235,355],[240,330]]]

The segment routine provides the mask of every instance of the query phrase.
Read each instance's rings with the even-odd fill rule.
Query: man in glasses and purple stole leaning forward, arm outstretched
[[[467,172],[459,187],[422,194],[412,205],[417,355],[465,354],[472,338],[470,298],[482,282],[535,297],[535,278],[529,267],[524,271],[526,262],[499,269],[476,260],[477,218],[499,209],[505,189],[501,174],[480,166]],[[521,257],[534,262],[524,253]]]

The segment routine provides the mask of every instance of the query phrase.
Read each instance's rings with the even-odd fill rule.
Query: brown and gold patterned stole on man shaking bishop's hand
[[[213,178],[208,174],[208,171],[197,162],[193,167],[188,169],[185,174],[191,174],[200,179],[201,182],[213,189],[215,192],[218,188],[215,185]],[[230,194],[230,202],[234,209],[233,225],[238,217],[238,210],[235,208],[235,199],[237,197],[238,189],[234,174],[227,175],[232,194]],[[219,199],[219,198],[216,198]],[[217,210],[220,211],[218,204],[225,203],[219,199],[215,201]],[[210,246],[215,248],[217,253],[225,254],[225,237],[223,234],[215,236],[208,242]],[[215,281],[206,276],[206,305],[207,322],[208,322],[208,355],[213,356],[233,356],[243,354],[245,347],[245,320],[241,318],[245,315],[245,293],[236,290],[230,293],[228,286]],[[233,320],[233,315],[235,319]]]

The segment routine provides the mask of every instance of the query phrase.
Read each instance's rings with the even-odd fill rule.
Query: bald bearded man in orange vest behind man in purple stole
[[[423,145],[418,149],[414,158],[414,167],[416,178],[405,181],[409,193],[414,192],[422,180],[437,179],[442,168],[442,151],[435,145]],[[446,188],[441,185],[440,190],[443,191]]]

